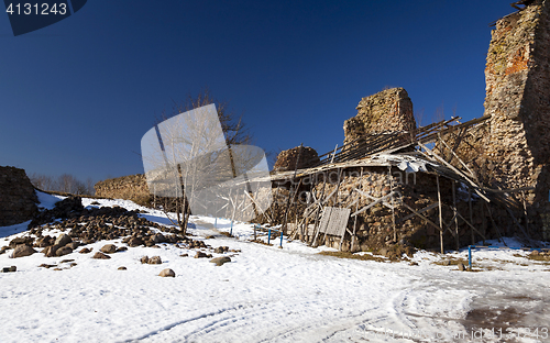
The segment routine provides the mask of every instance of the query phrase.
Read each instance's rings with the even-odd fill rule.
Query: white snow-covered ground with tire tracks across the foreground
[[[45,208],[56,200],[41,195]],[[169,223],[131,201],[82,202],[92,201]],[[18,267],[0,274],[0,342],[550,342],[550,265],[526,258],[528,252],[476,250],[481,272],[466,273],[436,263],[466,259],[468,250],[443,257],[418,252],[417,266],[344,259],[296,241],[285,240],[283,248],[278,240],[251,243],[252,226],[244,223],[233,225],[238,239],[230,239],[219,233],[230,230],[227,220],[216,229],[213,218],[193,222],[193,234],[215,236],[207,244],[241,252],[227,253],[231,263],[223,266],[170,244],[129,247],[111,259],[78,252],[0,255],[0,268]],[[0,228],[0,246],[25,234],[26,224]],[[125,245],[91,246],[96,252],[108,243]],[[180,257],[185,253],[191,257]],[[158,255],[163,264],[141,264],[143,255]],[[38,267],[44,263],[63,270]],[[164,268],[176,277],[157,276]],[[515,331],[506,335],[506,329]]]

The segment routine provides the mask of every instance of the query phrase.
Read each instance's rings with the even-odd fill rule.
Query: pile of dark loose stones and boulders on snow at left
[[[45,257],[59,257],[72,254],[80,246],[116,239],[122,239],[122,243],[130,247],[160,247],[157,244],[168,243],[180,248],[210,250],[216,254],[239,252],[229,250],[228,246],[213,248],[201,240],[180,234],[177,229],[163,226],[141,218],[136,211],[128,211],[120,207],[85,209],[78,197],[57,202],[54,209],[40,213],[29,226],[31,228],[29,235],[11,240],[8,246],[0,247],[0,254],[13,250],[11,257],[19,258],[35,254],[38,252],[37,248],[42,248],[41,253]],[[51,231],[62,233],[55,236]],[[110,259],[109,255],[127,251],[128,246],[106,244],[91,258]],[[79,253],[87,254],[91,251],[90,247],[84,247]],[[188,256],[188,254],[185,255]],[[212,257],[212,255],[198,251],[196,257]],[[144,264],[163,263],[160,256],[143,256],[141,262]],[[224,259],[223,263],[226,262],[228,261]],[[217,265],[221,264],[217,263]],[[72,264],[70,267],[76,264]],[[56,265],[43,264],[41,266],[50,268]],[[62,268],[54,270],[62,270]],[[121,270],[123,270],[122,267]],[[164,276],[175,276],[168,272],[164,274],[166,274]]]

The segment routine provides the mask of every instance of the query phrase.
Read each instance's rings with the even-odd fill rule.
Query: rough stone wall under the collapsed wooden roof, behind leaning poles
[[[298,197],[296,199],[296,204],[294,201],[290,202],[290,211],[288,214],[288,222],[295,223],[295,209],[297,209],[298,221],[301,220],[304,209],[307,207],[306,203],[306,192],[314,189],[317,195],[324,193],[328,196],[332,193],[338,187],[338,196],[333,196],[328,199],[326,206],[337,206],[337,207],[348,207],[356,198],[356,193],[349,196],[353,189],[360,189],[365,193],[371,195],[375,198],[381,198],[388,195],[392,190],[397,191],[399,197],[395,199],[396,202],[404,201],[413,209],[419,211],[432,203],[438,201],[437,191],[437,180],[436,176],[428,173],[417,173],[407,174],[400,172],[397,168],[392,168],[389,173],[388,168],[385,167],[364,167],[363,176],[361,177],[360,168],[346,168],[342,172],[342,181],[338,186],[338,172],[331,170],[327,176],[327,182],[323,185],[323,176],[309,176],[302,179],[300,184],[300,189],[298,191]],[[312,184],[312,188],[311,188]],[[289,182],[287,181],[286,187],[288,188]],[[324,191],[322,188],[324,187]],[[454,221],[453,211],[451,204],[452,199],[452,181],[440,177],[440,190],[441,190],[441,201],[442,217],[443,221],[451,223],[450,229],[454,232]],[[288,190],[286,188],[280,188],[276,191],[278,193],[278,202],[282,203],[280,211],[284,213],[284,209],[288,199]],[[458,211],[465,218],[469,219],[469,203],[468,203],[468,191],[464,189],[455,189],[457,193],[457,208]],[[366,197],[362,197],[361,200],[351,207],[351,213],[355,212],[358,209],[371,203]],[[391,202],[391,201],[388,201]],[[492,228],[491,222],[484,215],[481,207],[482,201],[473,201],[473,223],[479,230],[485,234],[487,239],[497,237],[497,232]],[[350,218],[348,222],[348,229],[353,231],[353,226],[356,228],[358,239],[354,241],[354,246],[351,246],[350,235],[346,234],[344,242],[342,244],[343,251],[380,251],[382,248],[395,250],[398,246],[406,247],[418,247],[428,248],[433,251],[439,251],[440,239],[439,230],[427,224],[426,221],[418,217],[411,217],[407,220],[400,221],[400,219],[411,214],[409,210],[402,206],[397,206],[395,210],[396,220],[396,240],[394,241],[394,229],[393,229],[393,213],[392,210],[383,204],[374,206],[372,209],[360,213],[358,215],[356,224],[353,218]],[[433,223],[439,223],[439,209],[436,207],[422,213]],[[278,215],[279,221],[283,222],[284,215]],[[265,221],[264,221],[265,222]],[[308,223],[312,225],[312,222]],[[290,225],[294,229],[294,224]],[[292,230],[290,229],[290,230]],[[476,235],[479,239],[479,235]],[[471,229],[462,221],[459,221],[459,241],[460,246],[464,246],[471,243]],[[443,235],[443,242],[446,248],[454,248],[457,246],[457,241],[453,235],[446,232]],[[340,246],[340,237],[337,236],[324,236],[320,235],[319,244],[326,244],[338,248]]]

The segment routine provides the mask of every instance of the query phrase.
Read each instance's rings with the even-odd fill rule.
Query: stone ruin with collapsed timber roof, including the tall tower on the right
[[[522,4],[492,32],[483,117],[417,128],[405,89],[363,98],[342,146],[273,173],[263,220],[345,251],[550,240],[550,4]]]

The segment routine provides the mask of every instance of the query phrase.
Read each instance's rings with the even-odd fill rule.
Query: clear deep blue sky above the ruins
[[[424,124],[482,115],[488,24],[512,1],[90,0],[14,37],[0,13],[0,165],[143,173],[142,135],[205,87],[277,152],[343,141],[362,97],[404,87]]]

